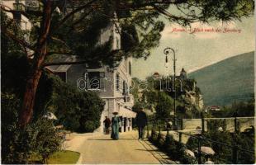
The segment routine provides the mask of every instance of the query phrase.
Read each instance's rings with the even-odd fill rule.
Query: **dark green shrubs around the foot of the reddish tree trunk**
[[[52,121],[36,120],[21,129],[17,124],[20,101],[10,93],[2,93],[1,97],[2,163],[28,163],[33,153],[45,160],[59,149],[60,140]]]

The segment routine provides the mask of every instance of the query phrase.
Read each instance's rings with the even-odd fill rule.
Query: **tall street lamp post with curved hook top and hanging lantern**
[[[165,64],[166,68],[168,68],[168,54],[170,54],[170,51],[173,53],[173,92],[174,92],[174,101],[173,101],[173,112],[174,112],[174,125],[176,126],[176,87],[175,87],[175,79],[176,79],[176,55],[173,48],[167,47],[164,49],[165,54]]]

